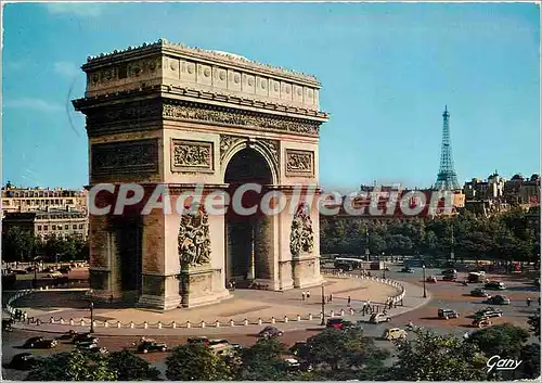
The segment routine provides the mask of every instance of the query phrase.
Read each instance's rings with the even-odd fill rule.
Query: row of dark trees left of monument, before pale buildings
[[[37,256],[50,261],[87,260],[89,245],[76,234],[41,238],[18,227],[11,227],[2,235],[3,261],[31,261]]]

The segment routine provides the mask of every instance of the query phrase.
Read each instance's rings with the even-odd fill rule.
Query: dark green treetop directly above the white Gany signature
[[[504,323],[475,332],[467,343],[476,345],[487,357],[519,358],[529,332],[522,328]]]

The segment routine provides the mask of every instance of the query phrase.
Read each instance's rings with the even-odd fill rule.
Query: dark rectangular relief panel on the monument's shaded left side
[[[158,171],[158,140],[145,139],[91,144],[91,175]]]

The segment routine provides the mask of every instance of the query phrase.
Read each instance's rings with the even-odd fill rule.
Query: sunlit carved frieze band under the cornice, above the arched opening
[[[271,117],[263,114],[250,115],[235,112],[234,110],[217,111],[193,105],[172,104],[164,105],[163,117],[177,120],[241,126],[261,130],[287,131],[309,136],[318,136],[320,125],[318,122],[301,122],[294,118]]]

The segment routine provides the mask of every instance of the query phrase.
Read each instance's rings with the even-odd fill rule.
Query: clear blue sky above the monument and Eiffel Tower
[[[428,187],[451,113],[463,183],[540,168],[539,8],[529,3],[10,3],[2,181],[88,183],[88,55],[160,37],[322,81],[320,181]]]

